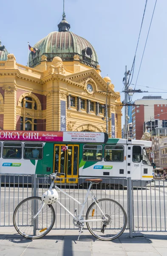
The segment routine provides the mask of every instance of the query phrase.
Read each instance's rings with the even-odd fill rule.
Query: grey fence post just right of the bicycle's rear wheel
[[[133,237],[133,210],[132,210],[132,180],[131,177],[127,179],[127,218],[129,223],[129,236]]]

